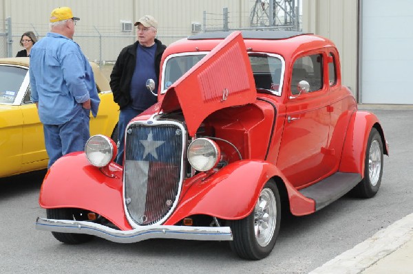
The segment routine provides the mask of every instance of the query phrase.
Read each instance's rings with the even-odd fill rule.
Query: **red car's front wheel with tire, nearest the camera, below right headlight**
[[[231,249],[241,258],[260,260],[268,256],[275,246],[281,220],[281,202],[277,185],[268,181],[257,203],[246,218],[230,220],[233,232]]]

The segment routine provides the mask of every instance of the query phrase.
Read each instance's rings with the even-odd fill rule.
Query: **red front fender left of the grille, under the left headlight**
[[[39,196],[45,209],[74,207],[104,216],[123,230],[131,229],[123,207],[122,168],[111,163],[111,178],[91,165],[84,152],[56,161],[47,171]]]

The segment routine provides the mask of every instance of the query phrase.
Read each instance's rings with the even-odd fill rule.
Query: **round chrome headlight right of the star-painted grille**
[[[220,158],[220,148],[211,139],[195,139],[188,147],[188,161],[195,170],[211,170],[218,165]]]

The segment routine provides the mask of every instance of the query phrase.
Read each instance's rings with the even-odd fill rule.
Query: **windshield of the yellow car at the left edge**
[[[14,102],[27,71],[21,67],[0,66],[0,104]]]

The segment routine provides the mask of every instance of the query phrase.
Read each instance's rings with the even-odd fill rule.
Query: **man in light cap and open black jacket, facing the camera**
[[[142,16],[135,26],[138,41],[122,49],[110,74],[114,101],[120,107],[116,157],[116,163],[120,165],[123,165],[127,123],[158,102],[157,96],[147,90],[146,81],[153,79],[158,87],[160,59],[167,47],[155,38],[158,22],[153,16]]]

